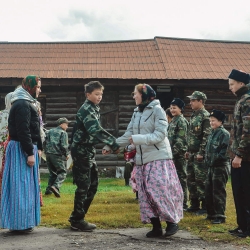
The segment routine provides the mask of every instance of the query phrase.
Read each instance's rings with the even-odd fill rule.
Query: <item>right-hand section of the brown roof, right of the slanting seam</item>
[[[250,72],[250,42],[156,37],[167,79],[227,79]]]

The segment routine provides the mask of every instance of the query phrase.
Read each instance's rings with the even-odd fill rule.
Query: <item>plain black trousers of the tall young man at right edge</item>
[[[237,224],[243,232],[250,232],[250,162],[231,167],[231,177]]]

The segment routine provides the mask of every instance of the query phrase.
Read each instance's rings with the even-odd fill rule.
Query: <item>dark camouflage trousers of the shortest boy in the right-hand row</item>
[[[226,184],[228,176],[228,162],[221,162],[208,168],[205,193],[207,215],[210,217],[226,217]]]

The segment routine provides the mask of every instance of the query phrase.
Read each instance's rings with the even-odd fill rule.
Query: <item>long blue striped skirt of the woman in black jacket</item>
[[[24,230],[40,223],[38,153],[34,145],[35,165],[27,165],[20,142],[10,141],[2,180],[1,227]]]

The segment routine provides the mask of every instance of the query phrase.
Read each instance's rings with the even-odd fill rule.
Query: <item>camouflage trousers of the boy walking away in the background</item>
[[[46,154],[46,163],[49,170],[49,180],[46,191],[50,191],[51,186],[59,190],[67,176],[66,158],[60,155]]]

